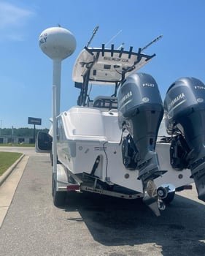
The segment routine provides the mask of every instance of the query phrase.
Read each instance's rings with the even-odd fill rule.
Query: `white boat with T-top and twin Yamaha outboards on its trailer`
[[[194,181],[205,200],[204,83],[181,78],[162,102],[155,79],[137,72],[154,56],[101,45],[77,57],[77,105],[57,116],[55,206],[75,190],[142,197],[159,216],[175,191]],[[92,98],[97,86],[106,94]],[[40,132],[36,151],[51,152],[51,146],[50,135]]]

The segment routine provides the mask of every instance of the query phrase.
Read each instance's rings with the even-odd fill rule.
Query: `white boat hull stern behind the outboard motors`
[[[139,170],[128,170],[123,165],[121,131],[117,124],[117,111],[74,107],[58,117],[58,160],[71,173],[88,173],[110,186],[117,185],[143,192]],[[77,127],[80,125],[80,127]],[[190,184],[190,170],[174,170],[170,165],[169,143],[156,143],[160,167],[168,170],[155,179],[155,184]],[[97,164],[96,164],[97,162]]]

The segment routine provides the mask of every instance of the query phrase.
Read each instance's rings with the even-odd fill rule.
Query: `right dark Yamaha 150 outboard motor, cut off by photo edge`
[[[196,78],[180,78],[164,100],[166,127],[171,135],[171,165],[190,168],[198,198],[205,201],[205,86]]]

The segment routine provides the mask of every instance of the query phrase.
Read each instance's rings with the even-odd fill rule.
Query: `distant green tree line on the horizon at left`
[[[35,132],[48,132],[49,129],[35,129]],[[13,134],[12,134],[13,133]],[[17,136],[17,137],[32,137],[34,136],[34,128],[0,128],[1,136]]]

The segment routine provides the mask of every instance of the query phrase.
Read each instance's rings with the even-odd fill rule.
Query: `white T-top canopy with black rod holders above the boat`
[[[138,53],[130,50],[125,51],[123,48],[114,49],[111,45],[110,49],[104,48],[84,48],[77,57],[72,73],[72,79],[76,83],[83,83],[85,76],[88,82],[96,84],[113,84],[122,81],[128,75],[136,72],[147,64],[152,56]]]

